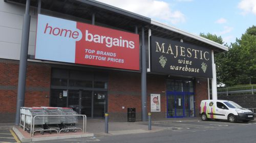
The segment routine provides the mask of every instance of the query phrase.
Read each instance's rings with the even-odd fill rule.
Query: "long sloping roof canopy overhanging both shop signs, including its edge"
[[[26,4],[26,0],[4,0],[17,4]],[[31,0],[31,6],[37,8],[38,0]],[[210,41],[200,36],[186,33],[177,28],[170,27],[151,18],[122,10],[104,3],[93,0],[41,0],[41,9],[54,11],[62,14],[72,15],[78,18],[91,20],[95,13],[95,22],[113,26],[125,31],[135,32],[135,27],[145,26],[151,28],[153,36],[180,41],[184,43],[199,45],[213,49],[215,53],[227,51],[228,47]]]

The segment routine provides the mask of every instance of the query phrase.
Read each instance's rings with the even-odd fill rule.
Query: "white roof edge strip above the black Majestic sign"
[[[194,35],[194,34],[190,34],[190,33],[181,31],[181,30],[179,30],[178,28],[170,27],[170,26],[168,26],[168,25],[165,25],[165,24],[162,24],[162,23],[160,23],[160,22],[153,21],[153,20],[151,20],[151,24],[156,25],[156,26],[160,26],[160,27],[163,27],[163,28],[166,28],[167,30],[180,33],[180,34],[182,34],[182,35],[184,35],[184,36],[187,36],[187,37],[190,37],[190,38],[199,40],[199,41],[202,41],[202,42],[207,43],[207,44],[209,44],[209,45],[212,45],[212,46],[215,46],[215,47],[217,47],[217,48],[220,48],[220,49],[222,49],[222,50],[224,50],[224,51],[228,51],[228,47],[226,47],[226,46],[224,46],[224,45],[221,45],[221,44],[219,44],[219,43],[217,43],[217,42],[211,41],[211,40],[209,40],[209,39],[206,39],[206,38],[204,38],[204,37],[196,36],[196,35]]]

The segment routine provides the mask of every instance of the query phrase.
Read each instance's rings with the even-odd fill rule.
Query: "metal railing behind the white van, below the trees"
[[[228,94],[234,94],[234,93],[251,93],[251,94],[254,94],[255,92],[256,92],[256,86],[255,85],[217,89],[217,94],[218,95],[226,94],[227,96],[228,96]]]

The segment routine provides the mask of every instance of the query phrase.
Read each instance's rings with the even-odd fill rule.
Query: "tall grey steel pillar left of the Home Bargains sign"
[[[30,0],[27,0],[26,12],[23,16],[22,43],[20,46],[15,125],[19,124],[19,108],[24,106],[24,100],[25,100],[27,56],[28,56],[29,28],[30,28],[29,7],[30,7]]]

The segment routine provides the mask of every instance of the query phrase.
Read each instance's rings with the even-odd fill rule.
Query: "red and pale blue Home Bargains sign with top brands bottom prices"
[[[38,14],[35,59],[139,70],[139,35]]]

